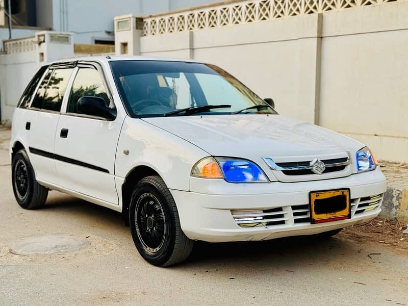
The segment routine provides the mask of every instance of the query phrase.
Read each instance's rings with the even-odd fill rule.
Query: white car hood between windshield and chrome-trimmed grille
[[[259,160],[261,157],[316,156],[364,145],[321,126],[283,115],[207,115],[142,120],[179,136],[212,156]]]

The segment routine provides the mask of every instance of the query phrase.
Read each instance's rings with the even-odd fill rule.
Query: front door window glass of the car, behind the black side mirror
[[[69,94],[67,113],[79,113],[77,110],[77,103],[83,96],[103,98],[106,105],[109,106],[106,87],[98,70],[94,68],[80,68],[78,70]]]

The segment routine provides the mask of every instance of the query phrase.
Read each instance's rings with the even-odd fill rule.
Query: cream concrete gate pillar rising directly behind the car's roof
[[[115,17],[115,54],[140,55],[143,19],[133,14]]]

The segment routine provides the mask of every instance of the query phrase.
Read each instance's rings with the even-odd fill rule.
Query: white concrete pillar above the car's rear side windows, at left
[[[37,42],[36,61],[39,65],[75,56],[70,33],[38,32],[35,34],[35,40]]]

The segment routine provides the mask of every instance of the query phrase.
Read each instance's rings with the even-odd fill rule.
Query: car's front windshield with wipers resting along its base
[[[125,107],[134,118],[276,114],[263,99],[214,65],[132,60],[111,61],[110,65]]]

